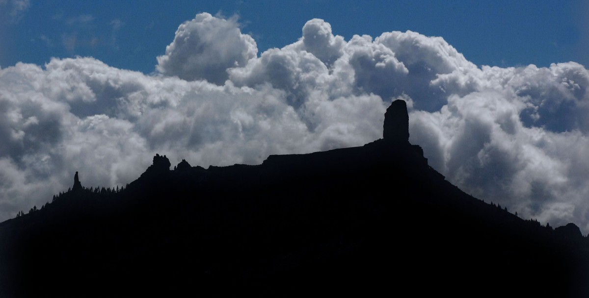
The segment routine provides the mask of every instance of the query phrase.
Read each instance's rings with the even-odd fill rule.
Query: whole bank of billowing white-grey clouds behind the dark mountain
[[[257,53],[237,19],[178,27],[152,75],[94,58],[0,69],[0,220],[71,186],[124,185],[155,153],[193,165],[359,146],[389,103],[410,108],[410,141],[446,179],[521,217],[589,232],[589,72],[469,62],[440,37],[349,41],[312,19]]]

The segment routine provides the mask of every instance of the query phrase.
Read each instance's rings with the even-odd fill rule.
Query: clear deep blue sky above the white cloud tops
[[[259,54],[296,41],[306,21],[322,18],[346,41],[406,30],[442,36],[478,66],[589,64],[583,1],[32,0],[18,14],[0,12],[0,66],[80,55],[150,73],[178,25],[199,12],[238,15]]]

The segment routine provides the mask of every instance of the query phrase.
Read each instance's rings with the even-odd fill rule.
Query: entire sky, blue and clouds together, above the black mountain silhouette
[[[589,5],[0,0],[0,220],[72,185],[382,137],[467,193],[589,232]],[[476,3],[476,4],[475,4]]]

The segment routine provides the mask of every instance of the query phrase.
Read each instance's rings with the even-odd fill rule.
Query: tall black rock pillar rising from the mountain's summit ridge
[[[383,128],[383,139],[387,142],[409,142],[409,114],[405,101],[397,99],[386,109]]]

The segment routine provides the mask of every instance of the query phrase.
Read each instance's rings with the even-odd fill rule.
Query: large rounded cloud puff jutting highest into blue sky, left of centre
[[[206,79],[222,85],[228,78],[227,68],[243,66],[256,55],[256,42],[241,34],[236,18],[204,12],[178,27],[166,55],[157,57],[157,70],[188,81]]]

